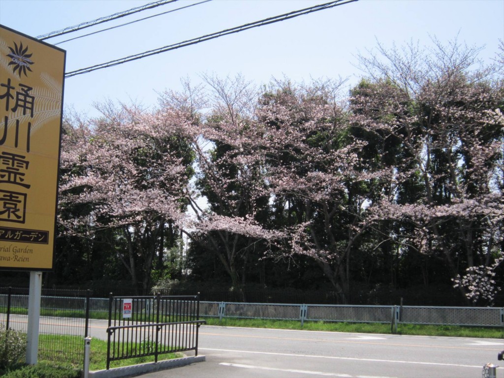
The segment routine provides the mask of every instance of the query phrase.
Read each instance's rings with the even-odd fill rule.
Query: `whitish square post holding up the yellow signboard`
[[[42,272],[30,272],[30,292],[28,295],[28,343],[26,345],[26,363],[29,365],[37,363],[41,295]]]

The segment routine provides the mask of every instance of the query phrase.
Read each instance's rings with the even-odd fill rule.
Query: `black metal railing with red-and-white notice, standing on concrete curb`
[[[198,355],[200,298],[129,296],[109,298],[107,369],[111,361],[194,350]]]

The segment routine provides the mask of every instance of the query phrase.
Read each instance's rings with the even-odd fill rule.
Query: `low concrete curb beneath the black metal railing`
[[[108,370],[96,370],[89,372],[89,378],[121,378],[138,374],[146,374],[153,371],[165,370],[172,367],[189,365],[195,362],[205,361],[205,356],[188,356],[174,358],[172,360],[148,362],[141,365],[114,367]]]

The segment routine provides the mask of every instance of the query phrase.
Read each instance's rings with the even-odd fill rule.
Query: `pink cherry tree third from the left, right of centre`
[[[279,82],[258,110],[278,224],[290,228],[286,256],[313,258],[347,302],[352,253],[366,230],[368,180],[382,174],[359,158],[349,133],[343,82]]]

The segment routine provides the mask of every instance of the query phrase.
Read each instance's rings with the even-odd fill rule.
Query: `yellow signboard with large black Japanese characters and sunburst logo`
[[[0,25],[0,270],[51,270],[65,50]]]

